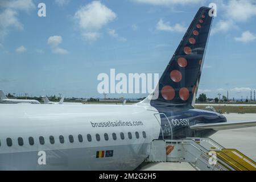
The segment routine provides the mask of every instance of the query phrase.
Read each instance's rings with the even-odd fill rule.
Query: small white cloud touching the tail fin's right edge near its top
[[[212,28],[211,34],[216,34],[218,32],[228,32],[229,30],[232,30],[236,28],[236,25],[232,20],[220,20],[214,28]]]

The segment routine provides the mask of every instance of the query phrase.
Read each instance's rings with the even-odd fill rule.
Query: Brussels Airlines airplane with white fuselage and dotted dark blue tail
[[[0,169],[133,170],[147,159],[152,140],[256,126],[193,107],[213,20],[209,10],[197,11],[150,95],[156,98],[134,105],[0,105]]]

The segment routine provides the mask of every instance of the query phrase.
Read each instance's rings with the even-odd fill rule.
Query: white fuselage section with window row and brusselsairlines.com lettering
[[[135,105],[0,105],[0,170],[135,169],[149,155],[150,142],[159,137],[155,113],[158,111],[154,107]],[[92,141],[88,141],[88,134]],[[100,135],[99,141],[96,134]],[[32,145],[30,137],[34,139]],[[44,144],[40,144],[39,137],[44,138]],[[22,138],[22,146],[18,138]],[[12,145],[8,146],[10,140]],[[46,164],[38,161],[42,151]],[[97,151],[112,151],[113,156],[97,158]]]

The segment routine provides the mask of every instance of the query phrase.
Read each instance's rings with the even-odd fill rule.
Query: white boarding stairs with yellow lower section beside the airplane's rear
[[[253,160],[210,138],[153,140],[147,162],[187,162],[204,171],[256,171]]]

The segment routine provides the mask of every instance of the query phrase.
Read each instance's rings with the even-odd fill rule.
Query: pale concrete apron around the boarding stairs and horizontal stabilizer
[[[256,114],[224,114],[228,121],[255,121]],[[236,148],[249,158],[256,161],[256,127],[222,130],[210,138],[225,148]],[[148,164],[142,170],[149,171],[195,171],[188,163],[155,163]]]

